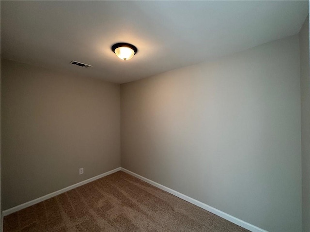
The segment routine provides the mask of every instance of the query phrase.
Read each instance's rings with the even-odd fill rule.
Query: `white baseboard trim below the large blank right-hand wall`
[[[133,172],[131,172],[131,171],[127,170],[127,169],[124,169],[124,168],[121,168],[121,170],[123,172],[125,172],[127,174],[130,174],[130,175],[133,175],[133,176],[139,178],[140,180],[143,180],[143,181],[145,181],[145,182],[147,182],[147,183],[149,183],[149,184],[151,184],[151,185],[153,185],[153,186],[155,186],[157,188],[160,188],[160,189],[162,189],[162,190],[164,190],[166,192],[169,192],[172,195],[185,200],[186,202],[189,202],[189,203],[192,203],[194,205],[197,205],[198,207],[201,207],[202,209],[205,209],[205,210],[207,210],[207,211],[209,211],[209,212],[211,212],[211,213],[213,213],[213,214],[215,214],[215,215],[217,215],[219,217],[222,217],[222,218],[224,218],[224,219],[226,219],[228,221],[231,221],[234,224],[236,224],[238,226],[241,226],[241,227],[243,227],[243,228],[245,228],[245,229],[247,229],[247,230],[249,230],[251,232],[267,232],[267,231],[265,231],[265,230],[263,230],[263,229],[261,229],[261,228],[259,228],[257,226],[254,226],[254,225],[252,225],[252,224],[250,224],[250,223],[248,223],[246,221],[243,221],[243,220],[241,220],[241,219],[239,219],[237,217],[233,217],[232,215],[226,214],[226,213],[224,213],[224,212],[222,212],[222,211],[220,211],[220,210],[218,210],[218,209],[216,209],[216,208],[214,208],[214,207],[212,207],[210,205],[207,205],[205,203],[197,201],[197,200],[195,200],[195,199],[193,199],[191,197],[188,197],[188,196],[186,196],[186,195],[184,195],[184,194],[182,194],[182,193],[180,193],[178,191],[175,191],[175,190],[173,190],[171,188],[168,188],[166,186],[158,184],[155,181],[149,180],[149,179],[147,179],[147,178],[145,178],[145,177],[143,177],[143,176],[141,176],[139,174],[133,173]]]

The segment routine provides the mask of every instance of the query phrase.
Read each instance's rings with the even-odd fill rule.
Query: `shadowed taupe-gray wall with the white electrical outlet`
[[[117,167],[120,85],[1,60],[3,210]]]

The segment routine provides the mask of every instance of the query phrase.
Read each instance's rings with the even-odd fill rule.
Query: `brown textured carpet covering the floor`
[[[4,217],[4,232],[248,232],[117,172]]]

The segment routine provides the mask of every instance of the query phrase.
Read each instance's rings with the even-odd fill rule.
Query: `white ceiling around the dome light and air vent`
[[[1,58],[125,83],[294,35],[307,4],[1,0]],[[118,42],[137,55],[117,58],[110,47]]]

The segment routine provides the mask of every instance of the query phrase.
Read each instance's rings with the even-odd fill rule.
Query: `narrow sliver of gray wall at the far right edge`
[[[310,232],[310,82],[309,17],[299,32],[303,231]]]

